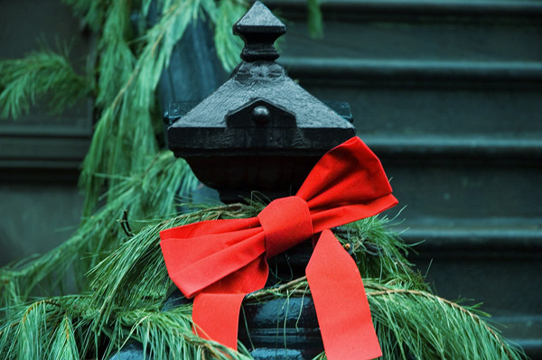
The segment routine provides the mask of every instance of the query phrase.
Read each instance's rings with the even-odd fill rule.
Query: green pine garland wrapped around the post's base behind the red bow
[[[162,310],[173,284],[158,233],[196,221],[251,217],[261,208],[261,203],[201,208],[156,221],[135,235],[123,234],[117,249],[89,272],[91,292],[12,306],[0,327],[0,356],[107,358],[137,341],[154,360],[250,358],[243,347],[236,353],[194,336],[192,305]],[[523,358],[476,306],[462,306],[429,291],[407,263],[406,245],[387,226],[387,219],[371,217],[336,232],[357,259],[385,359]],[[300,278],[249,294],[247,301],[309,294],[306,279]]]

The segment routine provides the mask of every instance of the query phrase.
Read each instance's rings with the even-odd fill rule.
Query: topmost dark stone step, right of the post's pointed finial
[[[304,0],[266,5],[285,16],[283,56],[498,61],[542,56],[540,1],[322,1],[323,39],[316,41]]]

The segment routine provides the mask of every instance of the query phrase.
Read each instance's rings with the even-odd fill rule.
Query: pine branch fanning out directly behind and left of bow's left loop
[[[89,272],[101,322],[106,323],[119,308],[162,306],[172,282],[160,251],[160,231],[197,221],[255,216],[261,208],[261,204],[206,207],[145,227]]]

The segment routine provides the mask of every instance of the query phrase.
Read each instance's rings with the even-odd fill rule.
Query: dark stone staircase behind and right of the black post
[[[350,103],[427,281],[542,359],[542,1],[330,0],[322,40],[304,0],[266,5],[289,75]]]

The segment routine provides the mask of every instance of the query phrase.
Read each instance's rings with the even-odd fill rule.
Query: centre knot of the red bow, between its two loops
[[[277,198],[257,216],[266,235],[266,258],[313,236],[313,220],[303,198]]]

